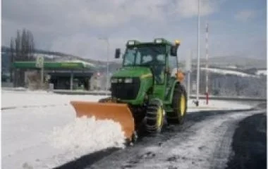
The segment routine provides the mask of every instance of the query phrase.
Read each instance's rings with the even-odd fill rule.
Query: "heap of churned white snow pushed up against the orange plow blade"
[[[63,127],[54,127],[48,137],[51,146],[71,152],[74,158],[108,147],[124,148],[121,125],[112,120],[76,118]]]

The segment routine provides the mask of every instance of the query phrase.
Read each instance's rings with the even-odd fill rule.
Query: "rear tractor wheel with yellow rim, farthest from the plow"
[[[180,84],[176,85],[174,89],[172,108],[173,112],[169,113],[167,116],[167,122],[169,124],[183,124],[187,113],[187,93],[185,91],[185,88]]]

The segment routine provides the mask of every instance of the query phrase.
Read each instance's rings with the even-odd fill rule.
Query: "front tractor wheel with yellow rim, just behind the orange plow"
[[[161,132],[164,125],[164,107],[160,99],[152,99],[145,114],[145,130],[152,134]]]

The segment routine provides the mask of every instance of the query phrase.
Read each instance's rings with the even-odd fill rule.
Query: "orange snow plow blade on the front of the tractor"
[[[135,123],[127,104],[71,101],[71,105],[75,108],[76,117],[85,115],[88,118],[95,116],[96,120],[114,120],[121,125],[125,137],[132,139]]]

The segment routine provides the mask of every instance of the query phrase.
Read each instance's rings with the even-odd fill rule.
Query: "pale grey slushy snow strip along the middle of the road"
[[[164,142],[161,147],[146,147],[138,163],[130,166],[128,161],[122,168],[212,168],[211,163],[217,164],[217,168],[224,168],[231,149],[231,135],[235,130],[234,127],[229,127],[229,124],[237,123],[238,119],[247,115],[221,115],[197,123],[189,130],[176,134],[176,137]],[[232,129],[231,132],[228,128]],[[229,137],[224,138],[227,135]],[[225,141],[221,142],[223,139]],[[219,146],[229,149],[219,152],[222,150],[218,149]],[[149,156],[146,156],[147,154]],[[116,165],[115,168],[119,166]]]

